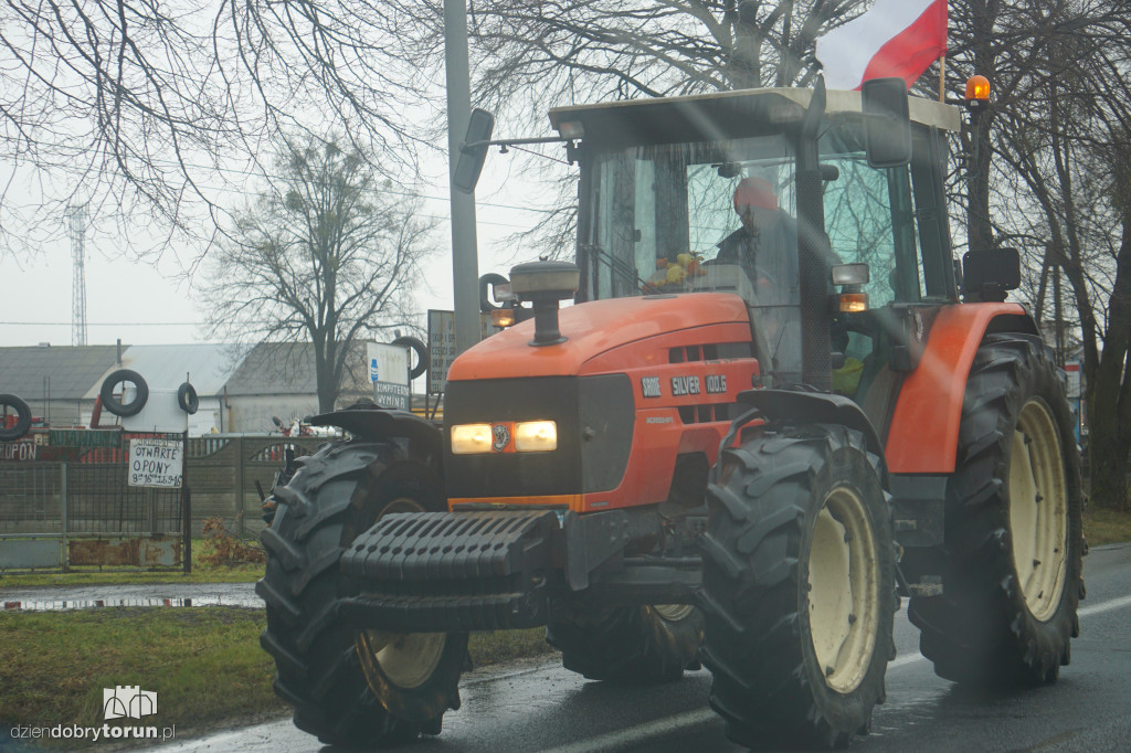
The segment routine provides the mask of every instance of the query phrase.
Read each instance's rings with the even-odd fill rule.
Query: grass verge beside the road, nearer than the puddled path
[[[175,725],[178,738],[285,716],[259,648],[265,626],[261,609],[238,607],[0,613],[0,728],[101,727],[102,691],[116,685],[156,692],[157,716],[144,724]],[[552,651],[542,629],[470,641],[475,666]]]

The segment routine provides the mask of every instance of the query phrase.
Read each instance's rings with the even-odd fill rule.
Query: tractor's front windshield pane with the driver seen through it
[[[750,285],[734,285],[749,303],[796,304],[793,178],[782,136],[603,155],[589,194],[588,297],[700,289],[718,263],[745,272]]]

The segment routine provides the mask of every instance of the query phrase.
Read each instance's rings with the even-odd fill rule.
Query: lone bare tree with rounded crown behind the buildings
[[[319,408],[333,410],[357,346],[412,317],[431,225],[340,139],[284,139],[277,176],[208,266],[214,334],[313,346]]]

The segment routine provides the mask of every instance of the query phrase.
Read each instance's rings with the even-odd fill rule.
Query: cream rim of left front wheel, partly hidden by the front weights
[[[423,511],[415,500],[398,497],[385,505],[378,520],[390,512]],[[373,674],[378,673],[390,684],[412,690],[428,682],[435,672],[447,640],[447,633],[390,633],[366,629],[357,634],[355,647],[370,686],[374,686]]]

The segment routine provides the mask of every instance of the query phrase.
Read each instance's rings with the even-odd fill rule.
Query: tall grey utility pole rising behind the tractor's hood
[[[472,116],[467,63],[467,2],[443,0],[443,61],[448,83],[448,191],[451,196],[451,288],[456,353],[480,341],[480,262],[475,244],[475,194],[452,184],[459,147]]]

